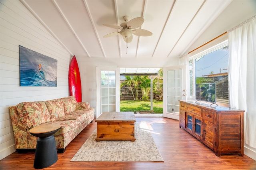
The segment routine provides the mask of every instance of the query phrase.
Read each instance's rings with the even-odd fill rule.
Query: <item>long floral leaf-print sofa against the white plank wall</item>
[[[15,147],[18,153],[36,148],[37,137],[29,130],[42,124],[58,123],[56,148],[63,153],[66,146],[94,119],[94,108],[88,102],[76,102],[74,96],[49,101],[22,102],[9,107]]]

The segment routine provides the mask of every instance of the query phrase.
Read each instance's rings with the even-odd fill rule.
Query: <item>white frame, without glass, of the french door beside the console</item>
[[[163,68],[163,117],[179,120],[179,113],[167,112],[167,71],[182,69],[182,100],[186,100],[186,65]]]

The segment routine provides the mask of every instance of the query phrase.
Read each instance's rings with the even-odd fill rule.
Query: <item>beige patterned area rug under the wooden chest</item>
[[[136,140],[96,142],[96,129],[70,161],[82,162],[164,162],[148,130],[135,123]]]

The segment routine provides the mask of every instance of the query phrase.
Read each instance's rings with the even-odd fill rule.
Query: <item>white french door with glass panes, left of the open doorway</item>
[[[103,112],[120,111],[119,68],[96,67],[96,118]]]

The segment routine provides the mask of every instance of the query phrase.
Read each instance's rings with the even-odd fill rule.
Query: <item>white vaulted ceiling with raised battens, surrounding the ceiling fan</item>
[[[76,57],[177,57],[183,55],[232,0],[20,0]],[[126,44],[123,17],[144,18],[152,36]],[[127,48],[128,45],[128,48]]]

